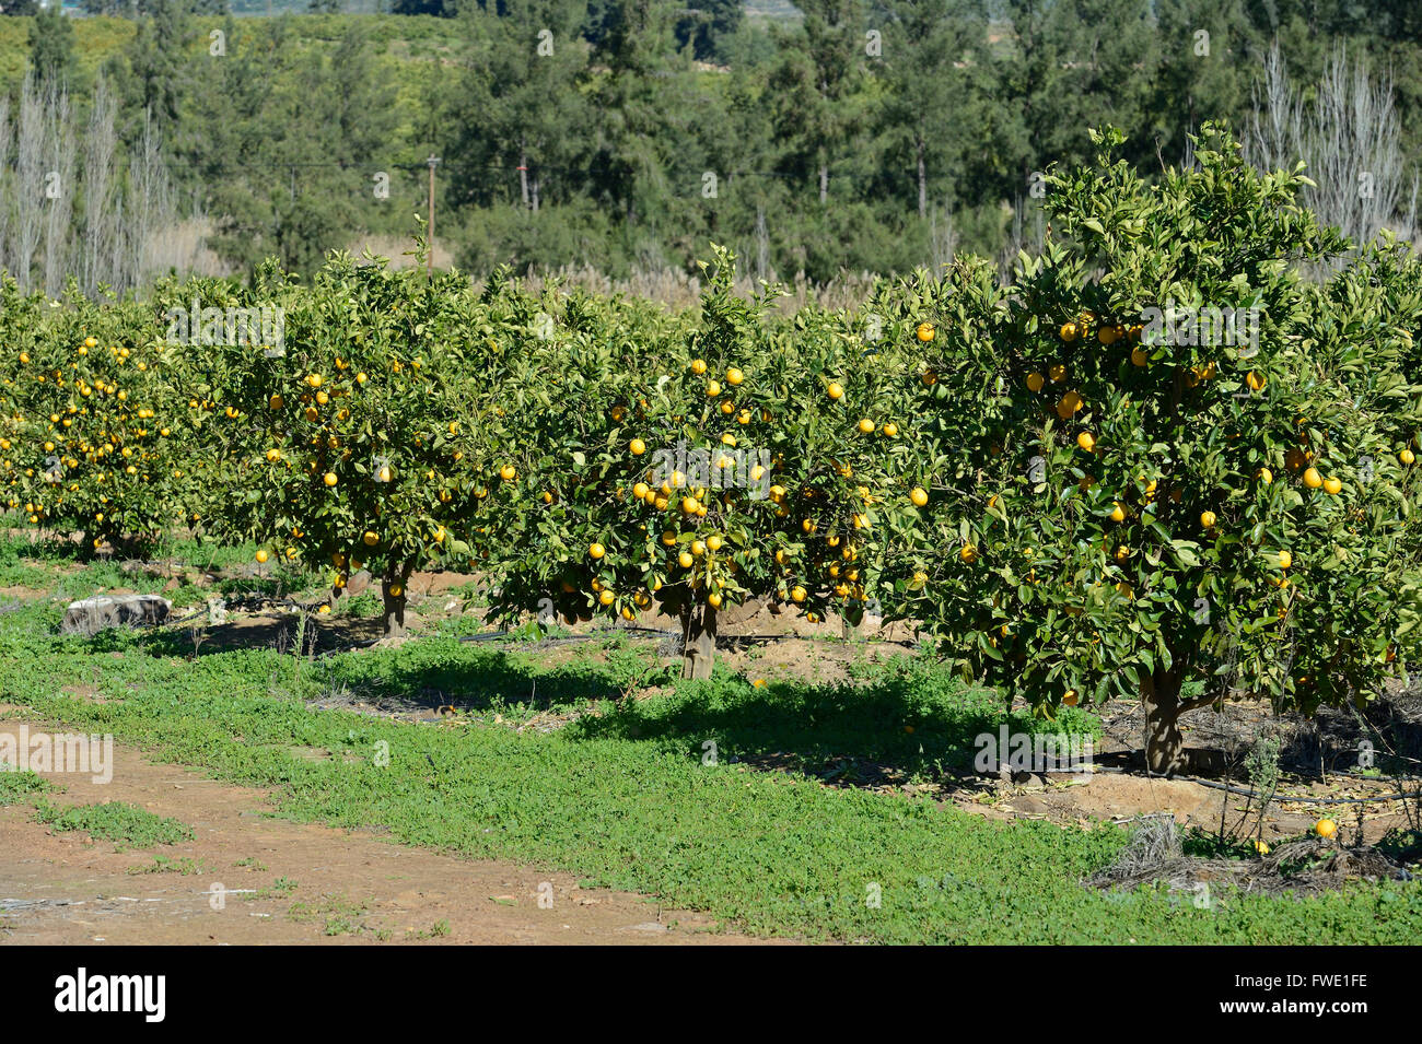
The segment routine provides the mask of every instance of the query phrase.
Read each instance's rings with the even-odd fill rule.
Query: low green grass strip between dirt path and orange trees
[[[1081,710],[1059,723],[1008,717],[991,693],[923,662],[860,665],[838,686],[754,686],[724,672],[681,683],[633,642],[565,646],[577,652],[550,666],[438,636],[317,658],[296,675],[272,649],[179,656],[161,634],[61,638],[46,619],[0,614],[0,699],[270,788],[294,820],[563,869],[745,932],[889,943],[1422,939],[1416,882],[1308,899],[1224,893],[1212,909],[1152,889],[1102,895],[1081,881],[1112,861],[1121,830],[990,822],[924,797],[825,785],[819,773],[846,766],[842,776],[934,780],[1008,720],[1096,729]],[[124,655],[95,655],[114,649]],[[667,695],[619,700],[638,678],[667,682]],[[108,702],[64,695],[80,679]],[[331,690],[465,714],[428,727],[307,706]],[[562,727],[538,727],[550,712]],[[311,750],[330,757],[300,756]],[[789,770],[757,767],[772,756]],[[337,932],[360,930],[347,910],[317,913]]]

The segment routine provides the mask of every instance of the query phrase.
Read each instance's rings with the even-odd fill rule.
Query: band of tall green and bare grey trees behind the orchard
[[[1159,169],[1207,119],[1261,168],[1307,161],[1348,234],[1418,223],[1411,0],[340,7],[0,0],[0,267],[95,294],[400,256],[437,156],[439,264],[674,283],[714,240],[823,284],[1005,261],[1088,128]]]

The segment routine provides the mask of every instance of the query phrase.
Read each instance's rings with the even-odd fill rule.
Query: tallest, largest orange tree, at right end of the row
[[[1374,266],[1327,276],[1347,244],[1305,179],[1224,132],[1155,185],[1095,139],[1011,284],[964,260],[934,290],[912,442],[933,474],[883,598],[1041,713],[1139,696],[1172,773],[1192,709],[1365,700],[1415,655],[1416,308],[1399,328]]]

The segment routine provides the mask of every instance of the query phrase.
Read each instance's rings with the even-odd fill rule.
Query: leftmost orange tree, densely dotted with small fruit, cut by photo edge
[[[179,359],[152,311],[0,286],[6,503],[36,527],[144,545],[185,521]]]

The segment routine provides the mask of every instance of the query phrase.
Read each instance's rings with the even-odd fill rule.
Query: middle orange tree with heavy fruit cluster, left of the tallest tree
[[[893,337],[866,345],[846,314],[776,320],[774,291],[739,300],[732,277],[717,249],[700,315],[520,305],[546,322],[496,392],[498,611],[657,608],[681,622],[691,678],[710,675],[734,607],[862,612],[910,361]]]

